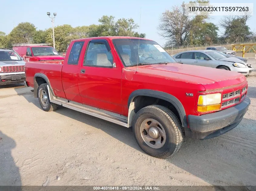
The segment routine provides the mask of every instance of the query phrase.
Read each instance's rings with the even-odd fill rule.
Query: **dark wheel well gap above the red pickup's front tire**
[[[181,122],[179,113],[178,113],[177,109],[175,108],[175,106],[166,100],[162,100],[162,99],[159,99],[156,97],[149,97],[149,96],[137,96],[137,97],[133,98],[132,101],[134,102],[134,112],[135,113],[137,113],[143,107],[146,107],[149,105],[161,105],[161,106],[167,107],[169,110],[171,110]]]

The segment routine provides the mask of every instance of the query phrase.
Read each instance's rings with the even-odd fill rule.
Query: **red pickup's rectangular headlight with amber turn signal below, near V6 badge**
[[[207,112],[220,110],[221,108],[221,93],[200,95],[198,97],[197,111]]]

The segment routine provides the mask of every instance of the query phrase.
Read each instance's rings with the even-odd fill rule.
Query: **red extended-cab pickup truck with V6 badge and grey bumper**
[[[25,74],[43,110],[62,105],[133,127],[138,145],[157,158],[177,152],[184,135],[228,132],[250,105],[243,75],[176,63],[136,37],[74,40],[63,62],[26,62]]]

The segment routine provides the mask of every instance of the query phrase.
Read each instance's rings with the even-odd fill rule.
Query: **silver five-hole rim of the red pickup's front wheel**
[[[140,126],[141,137],[143,141],[151,148],[161,148],[165,145],[165,129],[155,119],[145,119]]]

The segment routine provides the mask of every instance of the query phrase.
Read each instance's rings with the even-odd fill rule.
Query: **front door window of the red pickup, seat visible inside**
[[[113,57],[104,43],[89,42],[84,65],[96,67],[112,67]]]

